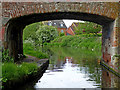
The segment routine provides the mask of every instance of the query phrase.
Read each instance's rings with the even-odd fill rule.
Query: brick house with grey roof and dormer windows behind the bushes
[[[64,33],[66,35],[67,27],[63,20],[45,21],[44,24],[48,26],[55,26],[57,27],[59,34]]]

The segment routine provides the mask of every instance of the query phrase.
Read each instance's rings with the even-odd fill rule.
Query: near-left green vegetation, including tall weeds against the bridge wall
[[[11,86],[13,82],[21,82],[24,77],[35,74],[38,70],[37,63],[22,62],[20,64],[14,63],[13,58],[6,56],[8,51],[4,51],[2,57],[2,89],[4,86]],[[6,58],[7,57],[7,58]]]

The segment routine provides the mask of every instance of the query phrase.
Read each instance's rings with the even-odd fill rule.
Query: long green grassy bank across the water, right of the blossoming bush
[[[101,49],[101,37],[100,36],[63,36],[54,39],[51,43],[46,43],[49,46],[60,46],[60,47],[79,47],[87,49]]]

